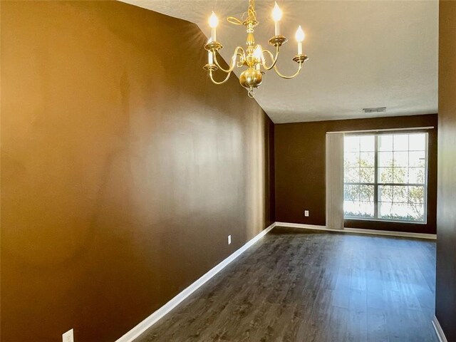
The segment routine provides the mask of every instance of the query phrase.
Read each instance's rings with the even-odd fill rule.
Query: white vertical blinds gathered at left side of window
[[[343,133],[326,133],[326,227],[343,229]]]

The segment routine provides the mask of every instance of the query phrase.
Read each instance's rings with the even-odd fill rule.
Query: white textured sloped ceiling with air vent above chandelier
[[[229,61],[235,46],[244,45],[244,26],[222,19],[242,16],[247,0],[124,2],[195,22],[207,36],[207,19],[215,11],[224,59]],[[310,59],[293,80],[272,71],[264,76],[255,98],[274,123],[437,113],[437,0],[277,2],[284,11],[281,31],[289,38],[279,70],[291,74],[296,69],[291,58],[298,25],[306,31],[304,53]],[[256,3],[260,24],[255,38],[266,47],[274,35],[274,1]],[[387,110],[363,113],[373,107]]]

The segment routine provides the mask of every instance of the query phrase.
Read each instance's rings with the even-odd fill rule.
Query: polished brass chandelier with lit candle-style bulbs
[[[301,72],[303,63],[307,61],[309,58],[302,53],[302,42],[304,41],[304,31],[302,31],[301,26],[299,26],[298,30],[296,31],[296,41],[298,42],[298,53],[294,56],[293,61],[298,63],[298,70],[294,75],[285,76],[279,72],[277,68],[277,59],[279,58],[280,47],[284,45],[288,41],[288,39],[281,35],[280,31],[280,19],[282,16],[281,9],[275,3],[274,9],[272,11],[272,18],[274,19],[274,26],[275,26],[275,33],[274,37],[269,39],[269,44],[276,48],[275,55],[271,51],[267,49],[261,48],[261,45],[255,44],[254,38],[254,27],[259,24],[257,21],[257,13],[255,12],[255,1],[249,0],[249,8],[247,12],[242,15],[241,19],[234,18],[233,16],[229,16],[227,21],[230,24],[234,25],[244,25],[247,28],[247,48],[244,50],[242,46],[237,46],[234,49],[234,54],[231,58],[231,63],[229,67],[223,68],[220,66],[219,62],[217,61],[217,53],[220,49],[223,48],[222,44],[217,41],[217,24],[218,19],[217,16],[212,12],[212,15],[209,18],[209,26],[211,27],[211,38],[209,42],[204,46],[204,48],[208,51],[208,63],[203,67],[204,70],[207,71],[209,74],[209,78],[215,84],[222,84],[228,81],[229,76],[231,76],[232,71],[235,67],[242,68],[247,67],[247,70],[242,71],[241,75],[239,76],[239,83],[244,88],[247,88],[248,95],[250,98],[254,98],[254,88],[258,88],[261,84],[263,75],[265,71],[269,71],[274,68],[277,75],[281,78],[294,78],[298,76]],[[269,57],[269,65],[266,63],[266,58],[264,55]],[[227,73],[226,78],[223,81],[215,81],[214,80],[214,71],[223,71]]]

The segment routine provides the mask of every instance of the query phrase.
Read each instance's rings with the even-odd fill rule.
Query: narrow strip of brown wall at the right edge
[[[440,1],[437,319],[456,341],[456,1]]]

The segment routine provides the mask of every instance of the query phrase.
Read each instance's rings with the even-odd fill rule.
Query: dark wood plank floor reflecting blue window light
[[[275,228],[145,341],[437,341],[435,242]]]

